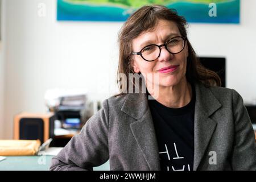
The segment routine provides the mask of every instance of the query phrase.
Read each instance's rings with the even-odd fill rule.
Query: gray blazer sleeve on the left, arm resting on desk
[[[109,159],[108,100],[85,123],[79,134],[52,158],[50,170],[93,170]]]

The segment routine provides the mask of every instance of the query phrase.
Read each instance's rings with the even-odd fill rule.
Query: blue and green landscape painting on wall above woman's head
[[[176,9],[188,22],[240,22],[240,0],[57,0],[57,20],[122,22],[152,4]]]

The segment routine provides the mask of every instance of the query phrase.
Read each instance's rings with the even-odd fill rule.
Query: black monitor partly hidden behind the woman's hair
[[[226,59],[224,57],[199,57],[201,64],[214,71],[221,78],[221,86],[226,87]]]

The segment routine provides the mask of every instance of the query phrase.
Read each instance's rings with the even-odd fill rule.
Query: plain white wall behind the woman
[[[46,17],[40,18],[41,2]],[[256,1],[241,0],[238,25],[189,27],[189,39],[200,56],[227,58],[227,87],[247,101],[256,99],[254,7]],[[5,9],[5,138],[13,136],[15,114],[46,111],[44,93],[49,88],[87,88],[100,100],[117,92],[117,34],[122,23],[57,22],[53,0],[7,0]]]

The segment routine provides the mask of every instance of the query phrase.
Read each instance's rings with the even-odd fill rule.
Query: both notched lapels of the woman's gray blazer
[[[205,150],[212,138],[217,122],[210,118],[221,107],[210,88],[199,82],[195,83],[196,104],[194,119],[194,164],[193,170],[199,167]],[[121,110],[137,121],[130,124],[131,131],[151,170],[160,170],[158,143],[154,123],[147,103],[147,94],[127,94]],[[208,155],[208,154],[207,154]]]

